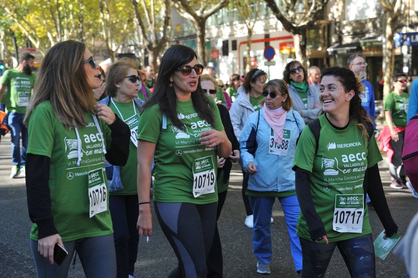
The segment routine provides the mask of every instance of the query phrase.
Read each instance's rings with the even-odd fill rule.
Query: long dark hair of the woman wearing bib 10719
[[[193,49],[184,45],[174,45],[168,48],[161,59],[160,70],[158,71],[158,79],[155,82],[154,91],[148,101],[142,106],[146,109],[154,104],[160,105],[160,110],[166,114],[174,126],[179,129],[184,129],[184,124],[177,118],[177,99],[174,88],[170,87],[170,76],[178,70],[179,67],[190,63],[193,58],[197,58]],[[207,123],[214,126],[214,115],[212,113],[212,106],[204,94],[199,83],[195,92],[191,92],[191,101],[193,107],[199,116],[206,120]],[[210,106],[210,107],[209,107]],[[214,126],[215,127],[215,126]]]

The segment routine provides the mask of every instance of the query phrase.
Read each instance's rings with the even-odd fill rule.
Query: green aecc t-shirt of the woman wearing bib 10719
[[[153,198],[157,202],[208,204],[218,200],[217,147],[208,148],[200,144],[199,138],[203,131],[222,131],[224,126],[217,105],[212,98],[206,97],[214,114],[215,126],[196,113],[191,99],[177,101],[177,116],[185,125],[183,130],[173,126],[168,117],[166,129],[162,128],[163,114],[158,104],[142,111],[138,139],[156,144]],[[194,197],[198,185],[203,190],[209,188],[209,184],[210,188],[214,186],[214,190]]]

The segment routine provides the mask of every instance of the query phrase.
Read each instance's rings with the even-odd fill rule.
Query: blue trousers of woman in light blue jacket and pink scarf
[[[285,215],[286,227],[289,233],[290,249],[296,270],[302,269],[302,249],[299,237],[296,235],[299,207],[296,195],[278,198]],[[272,240],[270,218],[273,213],[275,197],[251,197],[250,204],[254,215],[252,229],[252,245],[254,254],[261,264],[270,263],[272,256]]]

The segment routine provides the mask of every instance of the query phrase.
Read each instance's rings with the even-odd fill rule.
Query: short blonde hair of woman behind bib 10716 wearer
[[[129,68],[137,71],[138,67],[138,61],[127,57],[123,57],[119,61],[112,63],[106,75],[106,94],[115,97],[117,94],[115,83],[119,83],[125,78]]]

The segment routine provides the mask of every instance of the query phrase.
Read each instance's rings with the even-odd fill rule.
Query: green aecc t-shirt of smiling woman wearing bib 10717
[[[293,167],[312,173],[310,187],[315,210],[324,223],[329,242],[336,242],[371,233],[367,205],[364,206],[363,179],[366,169],[381,161],[382,156],[375,137],[364,145],[359,128],[349,124],[344,130],[335,129],[325,115],[319,117],[321,135],[318,153],[315,155],[314,135],[306,126],[299,138]],[[350,231],[353,232],[338,232],[344,231],[344,225],[352,221],[354,224]],[[296,233],[311,240],[302,212]]]

